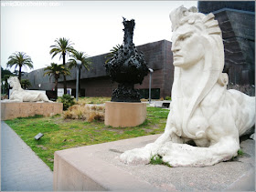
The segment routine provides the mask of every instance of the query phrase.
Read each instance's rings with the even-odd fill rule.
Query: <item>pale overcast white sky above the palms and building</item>
[[[1,66],[16,51],[31,56],[34,70],[61,64],[49,55],[59,37],[89,56],[108,53],[123,43],[123,17],[135,20],[135,45],[171,41],[169,13],[180,5],[197,1],[1,1]]]

